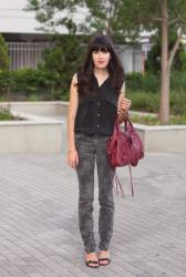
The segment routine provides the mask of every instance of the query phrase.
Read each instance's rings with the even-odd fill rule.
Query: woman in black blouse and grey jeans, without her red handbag
[[[113,133],[115,115],[120,123],[131,101],[124,98],[124,69],[106,35],[89,43],[82,69],[72,78],[68,115],[68,162],[79,179],[79,227],[84,243],[85,264],[97,268],[111,261],[108,245],[113,234],[113,177],[106,142]],[[100,252],[93,233],[94,166],[99,177]]]

